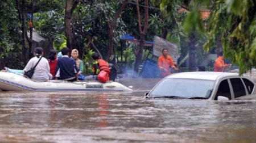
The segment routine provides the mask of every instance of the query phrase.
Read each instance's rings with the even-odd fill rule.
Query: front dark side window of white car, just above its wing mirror
[[[217,100],[218,96],[224,96],[226,98],[229,98],[229,100],[231,99],[231,93],[230,93],[229,83],[227,79],[222,81],[218,86],[218,90],[214,100]]]

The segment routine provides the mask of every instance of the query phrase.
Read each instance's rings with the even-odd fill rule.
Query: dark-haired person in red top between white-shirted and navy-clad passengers
[[[52,79],[55,79],[55,69],[57,66],[57,51],[51,49],[48,54],[48,62],[50,67],[50,73],[52,74]]]

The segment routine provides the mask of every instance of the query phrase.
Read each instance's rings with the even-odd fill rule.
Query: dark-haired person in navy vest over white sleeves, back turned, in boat
[[[76,66],[76,61],[73,58],[69,58],[69,49],[64,47],[61,49],[63,55],[57,61],[55,69],[55,79],[62,79],[65,81],[77,81],[77,73],[79,69]]]

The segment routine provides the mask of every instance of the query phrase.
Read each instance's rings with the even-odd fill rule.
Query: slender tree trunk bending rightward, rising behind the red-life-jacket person
[[[117,22],[117,19],[118,17],[121,15],[121,12],[125,9],[125,7],[127,6],[128,4],[128,0],[125,0],[120,9],[115,12],[115,16],[114,16],[114,19],[110,22],[108,21],[107,24],[108,24],[108,32],[109,32],[109,47],[108,47],[108,51],[106,53],[106,56],[105,56],[105,60],[108,61],[111,54],[112,54],[112,51],[113,51],[113,47],[114,47],[114,27],[115,27],[115,23]]]

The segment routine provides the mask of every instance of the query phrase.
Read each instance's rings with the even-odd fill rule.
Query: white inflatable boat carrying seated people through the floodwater
[[[118,82],[52,80],[33,81],[14,73],[0,72],[0,90],[3,91],[132,91]]]

